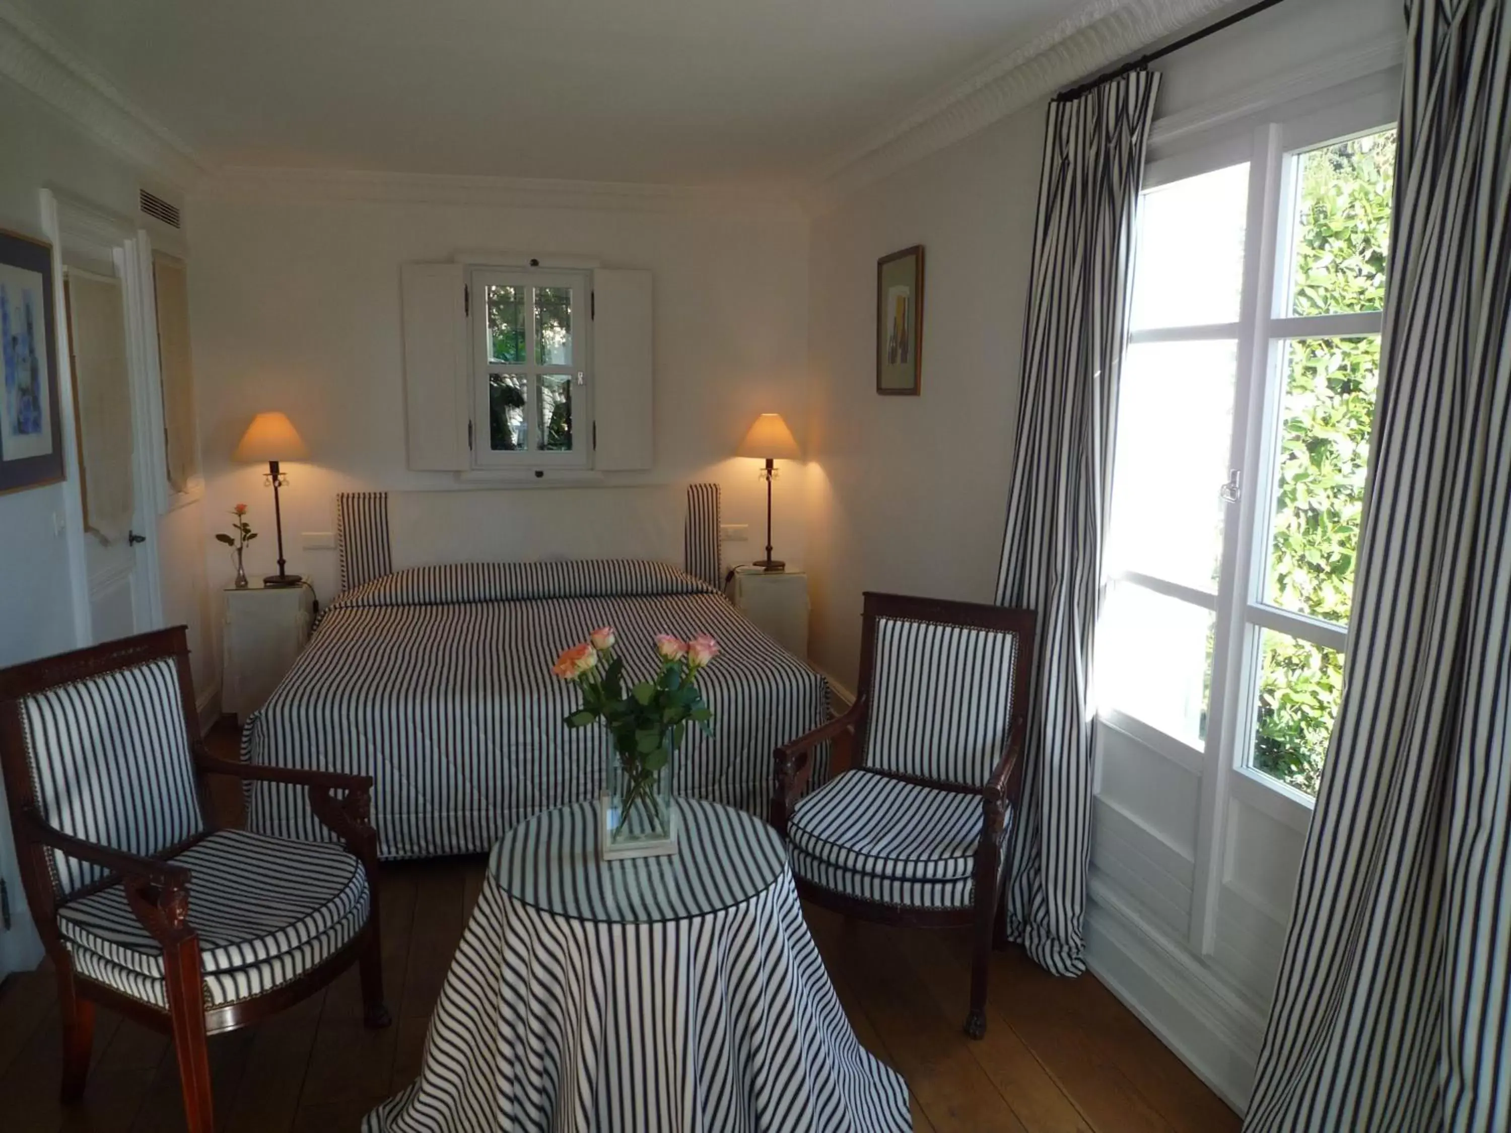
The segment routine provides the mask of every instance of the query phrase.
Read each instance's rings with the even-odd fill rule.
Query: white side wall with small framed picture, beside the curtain
[[[810,653],[848,687],[863,591],[993,597],[1043,137],[1043,107],[1023,110],[813,222]],[[923,393],[882,397],[876,260],[914,243]]]

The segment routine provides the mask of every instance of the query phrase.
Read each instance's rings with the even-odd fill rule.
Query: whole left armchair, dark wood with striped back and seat
[[[183,627],[0,671],[0,773],[57,971],[63,1100],[83,1094],[101,1003],[172,1036],[189,1130],[212,1133],[209,1035],[354,962],[367,1026],[388,1012],[372,780],[218,760],[196,737]],[[305,786],[340,844],[216,826],[209,775]]]

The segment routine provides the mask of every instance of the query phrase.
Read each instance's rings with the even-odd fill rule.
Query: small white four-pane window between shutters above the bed
[[[471,273],[476,464],[588,464],[589,295],[585,272]]]

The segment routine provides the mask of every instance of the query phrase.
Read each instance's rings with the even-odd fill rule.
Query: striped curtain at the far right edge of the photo
[[[1511,5],[1413,0],[1348,689],[1244,1128],[1511,1128]]]

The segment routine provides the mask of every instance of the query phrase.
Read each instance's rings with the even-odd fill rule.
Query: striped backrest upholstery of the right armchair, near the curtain
[[[984,786],[1012,722],[1017,634],[878,618],[866,766]]]

